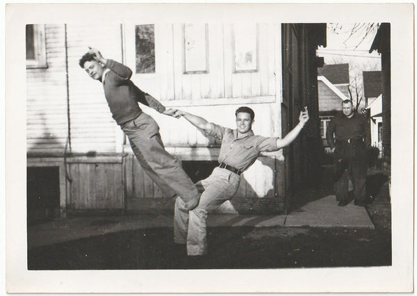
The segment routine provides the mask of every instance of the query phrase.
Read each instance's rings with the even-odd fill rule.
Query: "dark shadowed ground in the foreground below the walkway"
[[[373,178],[373,179],[372,179]],[[378,186],[373,185],[377,180]],[[122,231],[28,249],[29,270],[318,268],[391,265],[386,178],[371,174],[375,229],[209,227],[208,255],[186,256],[172,228]]]

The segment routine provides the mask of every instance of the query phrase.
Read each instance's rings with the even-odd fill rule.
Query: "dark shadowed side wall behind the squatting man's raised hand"
[[[310,120],[294,142],[284,149],[286,208],[291,197],[320,184],[320,158],[324,153],[318,116],[318,45],[326,46],[326,24],[282,24],[282,135],[298,123],[300,110],[308,107]]]

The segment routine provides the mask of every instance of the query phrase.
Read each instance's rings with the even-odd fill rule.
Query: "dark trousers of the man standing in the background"
[[[361,140],[336,141],[334,191],[338,201],[347,200],[349,179],[353,184],[354,199],[366,197],[367,158],[365,143]]]

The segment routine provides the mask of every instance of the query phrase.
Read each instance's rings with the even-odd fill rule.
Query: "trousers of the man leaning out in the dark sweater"
[[[177,158],[169,154],[161,139],[155,120],[141,113],[122,125],[133,153],[148,176],[161,188],[165,197],[178,195],[184,202],[199,198],[197,187],[183,171]]]

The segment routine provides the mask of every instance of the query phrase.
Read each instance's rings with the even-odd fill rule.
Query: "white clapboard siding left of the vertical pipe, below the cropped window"
[[[67,140],[65,26],[47,24],[45,36],[48,67],[26,69],[26,139],[31,153],[63,152]]]

